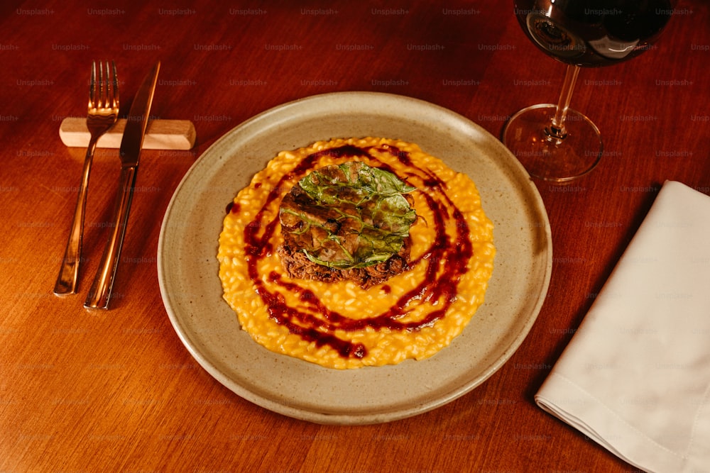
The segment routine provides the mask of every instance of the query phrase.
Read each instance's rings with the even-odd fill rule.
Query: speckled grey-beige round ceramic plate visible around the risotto
[[[420,362],[336,370],[270,352],[241,330],[222,299],[217,247],[225,208],[278,152],[367,135],[417,143],[476,182],[497,248],[486,301],[449,347]],[[371,92],[300,99],[226,133],[182,179],[158,244],[165,308],[195,360],[244,399],[332,424],[406,418],[479,386],[528,334],[551,267],[550,224],[540,195],[500,141],[446,108]]]

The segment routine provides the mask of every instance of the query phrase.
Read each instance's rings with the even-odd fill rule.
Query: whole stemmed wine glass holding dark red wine
[[[594,169],[599,129],[569,108],[580,67],[626,61],[652,48],[674,0],[513,0],[515,16],[537,48],[567,64],[557,104],[523,108],[506,122],[502,140],[533,176],[567,182]]]

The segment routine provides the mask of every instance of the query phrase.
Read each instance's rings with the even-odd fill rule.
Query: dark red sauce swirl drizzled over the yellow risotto
[[[266,213],[268,206],[275,199],[280,199],[284,183],[291,179],[300,179],[305,176],[307,172],[310,172],[314,163],[324,155],[337,158],[366,157],[368,160],[378,161],[377,157],[371,155],[368,151],[367,148],[344,145],[339,148],[315,152],[305,157],[293,171],[280,179],[278,184],[268,194],[266,203],[256,217],[244,229],[249,277],[256,288],[256,294],[266,304],[269,316],[275,322],[288,328],[290,333],[300,336],[303,340],[315,342],[319,347],[329,345],[334,350],[337,350],[342,357],[362,358],[367,355],[367,350],[361,343],[352,343],[349,340],[343,340],[332,335],[334,330],[351,331],[364,328],[379,330],[388,328],[390,330],[414,331],[431,326],[443,318],[449,306],[457,298],[457,284],[460,277],[466,272],[469,259],[473,255],[468,224],[461,211],[454,206],[445,193],[446,184],[427,169],[415,167],[410,160],[408,152],[385,145],[378,148],[378,151],[388,152],[410,167],[410,169],[416,169],[420,173],[416,175],[424,180],[426,187],[426,191],[422,191],[422,196],[434,215],[434,222],[428,222],[427,224],[432,225],[435,229],[435,240],[417,260],[410,262],[410,266],[425,265],[425,277],[422,281],[414,289],[403,294],[387,311],[360,320],[348,318],[337,311],[327,308],[312,291],[293,282],[284,281],[277,272],[268,274],[268,282],[270,284],[267,286],[261,279],[260,274],[258,274],[257,265],[262,258],[271,255],[273,252],[273,245],[271,245],[270,240],[279,222],[278,216],[271,221],[265,222],[264,213]],[[379,162],[379,167],[394,172],[386,163]],[[406,180],[406,177],[400,176],[400,178]],[[453,209],[450,216],[449,208]],[[229,208],[229,210],[234,211],[234,208]],[[455,238],[449,236],[445,231],[447,221],[452,219],[456,228]],[[283,291],[297,294],[302,306],[288,306],[282,293],[269,289],[274,286]],[[389,289],[387,287],[386,291]],[[439,301],[439,308],[427,314],[420,321],[400,321],[408,312],[409,304],[417,300]],[[317,316],[314,314],[317,314]],[[322,329],[325,329],[325,331]]]

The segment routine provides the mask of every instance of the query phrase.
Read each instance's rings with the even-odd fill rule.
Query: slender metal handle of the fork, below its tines
[[[79,279],[79,267],[82,255],[82,240],[84,238],[84,216],[87,207],[87,189],[89,189],[89,173],[91,172],[94,150],[99,138],[92,135],[89,140],[86,157],[84,157],[84,168],[82,169],[82,182],[77,195],[77,206],[74,209],[72,227],[67,240],[67,247],[64,250],[62,266],[59,269],[57,281],[54,284],[54,294],[66,296],[76,294],[77,280]]]

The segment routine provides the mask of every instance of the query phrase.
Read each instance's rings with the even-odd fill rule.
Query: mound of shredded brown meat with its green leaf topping
[[[291,277],[363,288],[407,269],[414,188],[363,162],[316,169],[283,197],[278,247]]]

